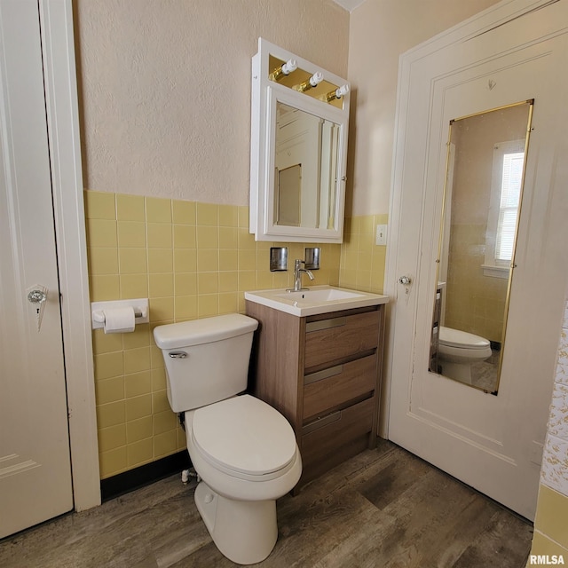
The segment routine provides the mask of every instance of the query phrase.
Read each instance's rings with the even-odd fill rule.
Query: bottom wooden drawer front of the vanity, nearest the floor
[[[300,446],[304,471],[300,485],[367,449],[374,410],[375,398],[368,398],[304,426]]]

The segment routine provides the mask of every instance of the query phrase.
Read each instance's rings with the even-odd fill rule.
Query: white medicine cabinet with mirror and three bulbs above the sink
[[[342,242],[349,83],[258,40],[252,59],[250,233]]]

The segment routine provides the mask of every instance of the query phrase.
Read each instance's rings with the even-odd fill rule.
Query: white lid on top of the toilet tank
[[[256,327],[256,319],[241,313],[228,313],[154,327],[154,340],[160,349],[177,349],[244,335],[255,331]]]

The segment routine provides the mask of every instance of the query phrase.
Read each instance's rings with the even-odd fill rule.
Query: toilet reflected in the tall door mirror
[[[438,362],[442,367],[442,375],[471,384],[471,364],[490,357],[491,344],[485,337],[452,327],[440,327]]]

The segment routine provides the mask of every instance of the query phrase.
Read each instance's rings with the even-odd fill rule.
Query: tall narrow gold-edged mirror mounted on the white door
[[[533,100],[450,121],[430,372],[497,394]]]

